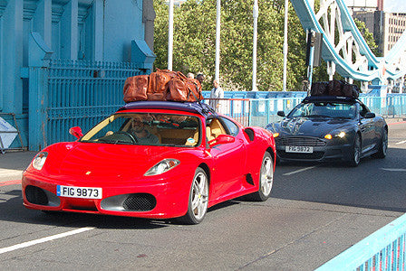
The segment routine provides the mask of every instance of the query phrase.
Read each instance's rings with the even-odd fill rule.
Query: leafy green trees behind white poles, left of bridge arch
[[[257,89],[282,90],[285,1],[260,1],[257,40]],[[254,0],[222,0],[220,79],[226,90],[252,89]],[[168,5],[154,0],[155,67],[168,67]],[[306,74],[305,36],[289,5],[287,89],[300,90]],[[215,73],[216,1],[188,0],[174,9],[173,70],[206,75],[211,89]]]

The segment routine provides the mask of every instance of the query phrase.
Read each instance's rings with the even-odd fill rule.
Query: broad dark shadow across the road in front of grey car
[[[405,149],[385,159],[365,157],[358,167],[339,163],[288,163],[275,170],[273,198],[406,212]],[[315,166],[307,171],[286,174]]]

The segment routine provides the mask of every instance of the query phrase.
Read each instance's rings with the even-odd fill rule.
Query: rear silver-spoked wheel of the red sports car
[[[266,201],[274,184],[274,161],[271,154],[265,153],[259,171],[258,191],[252,194],[254,201]]]

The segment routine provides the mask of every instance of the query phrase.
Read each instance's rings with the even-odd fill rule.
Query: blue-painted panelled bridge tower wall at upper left
[[[0,117],[16,116],[24,145],[37,149],[58,140],[49,140],[44,130],[40,139],[30,138],[35,127],[47,125],[43,121],[52,118],[54,108],[68,112],[69,107],[98,106],[93,101],[83,101],[82,106],[74,102],[69,97],[73,86],[92,89],[116,80],[114,86],[120,87],[132,70],[138,74],[152,70],[152,4],[152,0],[0,1]],[[54,80],[60,80],[57,90],[52,90]],[[52,107],[51,90],[73,102],[61,100]],[[87,99],[101,95],[94,91]],[[116,95],[109,91],[103,96]],[[68,114],[59,118],[64,115]]]

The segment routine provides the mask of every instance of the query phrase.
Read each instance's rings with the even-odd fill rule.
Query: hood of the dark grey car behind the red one
[[[353,124],[353,119],[329,117],[285,117],[269,128],[282,136],[314,136],[324,137],[336,129],[345,129]]]

